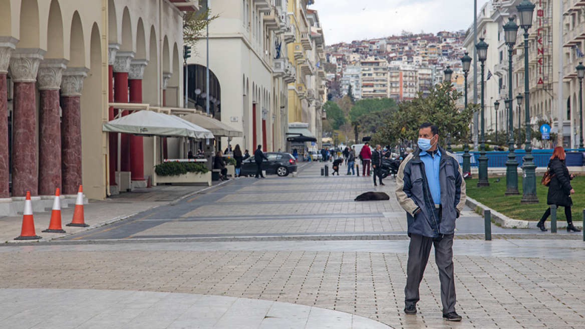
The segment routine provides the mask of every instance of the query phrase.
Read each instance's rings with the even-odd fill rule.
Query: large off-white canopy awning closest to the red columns
[[[176,115],[146,110],[136,111],[103,124],[102,131],[145,136],[214,138],[214,135],[207,129],[185,121]]]

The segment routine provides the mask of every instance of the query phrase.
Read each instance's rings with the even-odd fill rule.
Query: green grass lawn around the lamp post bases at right
[[[545,212],[548,205],[546,205],[546,194],[548,187],[541,184],[542,176],[536,176],[536,196],[538,196],[539,203],[537,204],[520,204],[522,199],[522,176],[518,175],[518,196],[504,196],[506,191],[506,178],[500,177],[498,183],[494,183],[497,178],[490,178],[490,186],[477,187],[477,179],[468,179],[467,196],[473,198],[488,207],[499,211],[515,220],[529,220],[538,221]],[[583,220],[583,208],[585,208],[585,176],[577,176],[571,181],[571,185],[575,190],[572,195],[573,206],[571,212],[573,213],[573,222]],[[565,209],[560,207],[557,211],[557,221],[566,221]],[[550,217],[548,218],[550,220]]]

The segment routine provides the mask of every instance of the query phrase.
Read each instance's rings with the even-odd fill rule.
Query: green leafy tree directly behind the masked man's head
[[[439,126],[443,140],[450,133],[453,143],[467,139],[473,112],[479,106],[469,104],[467,109],[457,109],[456,102],[462,93],[453,90],[452,85],[435,85],[429,89],[425,98],[422,92],[412,101],[398,104],[397,111],[391,113],[381,126],[373,140],[381,145],[397,145],[402,142],[415,142],[418,139],[418,127],[423,122],[432,122]]]

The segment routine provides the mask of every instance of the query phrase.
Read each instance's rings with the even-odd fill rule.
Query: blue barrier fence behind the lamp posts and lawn
[[[552,156],[552,149],[535,149],[532,150],[532,156],[534,157],[534,162],[537,167],[546,167],[548,166],[550,156]],[[574,149],[567,149],[565,150],[566,159],[565,163],[567,166],[583,166],[584,165],[584,157],[585,152],[579,152],[579,150]],[[479,152],[469,152],[472,154],[471,165],[472,167],[477,167],[477,159],[480,156]],[[524,149],[521,150],[514,150],[514,154],[516,155],[516,161],[519,163],[519,166],[522,166],[524,163],[524,156],[526,155],[526,151]],[[463,165],[463,152],[456,153],[457,160],[459,160],[459,164]],[[486,152],[487,156],[487,166],[488,167],[504,167],[506,166],[506,162],[508,161],[508,151],[493,151],[493,152]]]

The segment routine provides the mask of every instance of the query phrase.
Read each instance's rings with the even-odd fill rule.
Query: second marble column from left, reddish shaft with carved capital
[[[14,82],[12,121],[12,196],[39,193],[35,82],[42,49],[16,49],[10,59]]]

